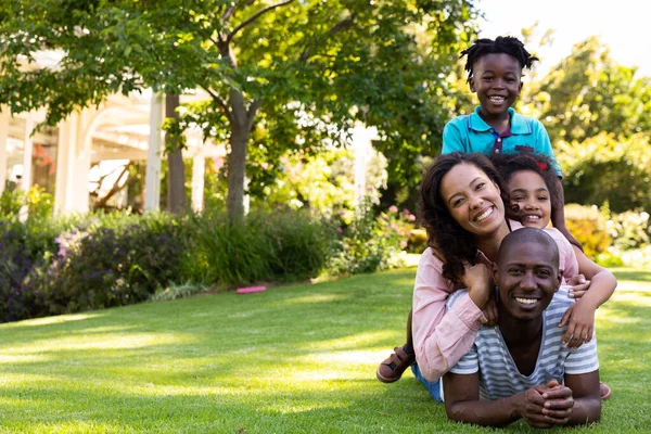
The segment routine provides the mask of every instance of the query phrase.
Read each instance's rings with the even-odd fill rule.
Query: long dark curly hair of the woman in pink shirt
[[[441,155],[425,173],[421,182],[418,212],[427,231],[427,245],[443,255],[443,277],[459,282],[465,273],[464,263],[475,264],[477,244],[474,235],[452,218],[443,197],[441,181],[459,164],[472,164],[497,184],[505,204],[509,204],[506,184],[488,157],[478,152],[454,152]]]

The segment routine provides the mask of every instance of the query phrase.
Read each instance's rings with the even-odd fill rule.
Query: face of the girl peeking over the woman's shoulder
[[[511,210],[522,226],[545,229],[551,219],[551,199],[542,177],[535,171],[521,170],[509,180]]]

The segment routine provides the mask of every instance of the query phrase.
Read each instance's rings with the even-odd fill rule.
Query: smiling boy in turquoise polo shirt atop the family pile
[[[538,58],[511,36],[478,39],[468,50],[465,71],[470,90],[480,106],[470,115],[448,122],[443,130],[443,154],[455,151],[481,152],[486,155],[539,153],[549,157],[559,179],[556,180],[551,222],[577,247],[580,244],[565,228],[564,194],[561,170],[556,163],[549,136],[542,124],[522,116],[512,108],[522,90],[522,69],[531,69]]]

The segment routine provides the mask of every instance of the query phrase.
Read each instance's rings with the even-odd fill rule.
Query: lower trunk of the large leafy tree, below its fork
[[[226,209],[233,224],[244,220],[244,179],[246,178],[246,144],[250,130],[247,127],[231,124],[230,146],[228,155],[228,195]]]

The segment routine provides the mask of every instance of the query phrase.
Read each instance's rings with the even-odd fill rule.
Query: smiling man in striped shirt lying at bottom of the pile
[[[493,273],[498,326],[482,327],[471,350],[444,376],[448,418],[495,426],[522,418],[541,429],[599,421],[596,339],[569,349],[561,343],[565,328],[557,326],[573,301],[557,292],[556,242],[539,229],[513,231]],[[448,307],[460,295],[450,296]]]

